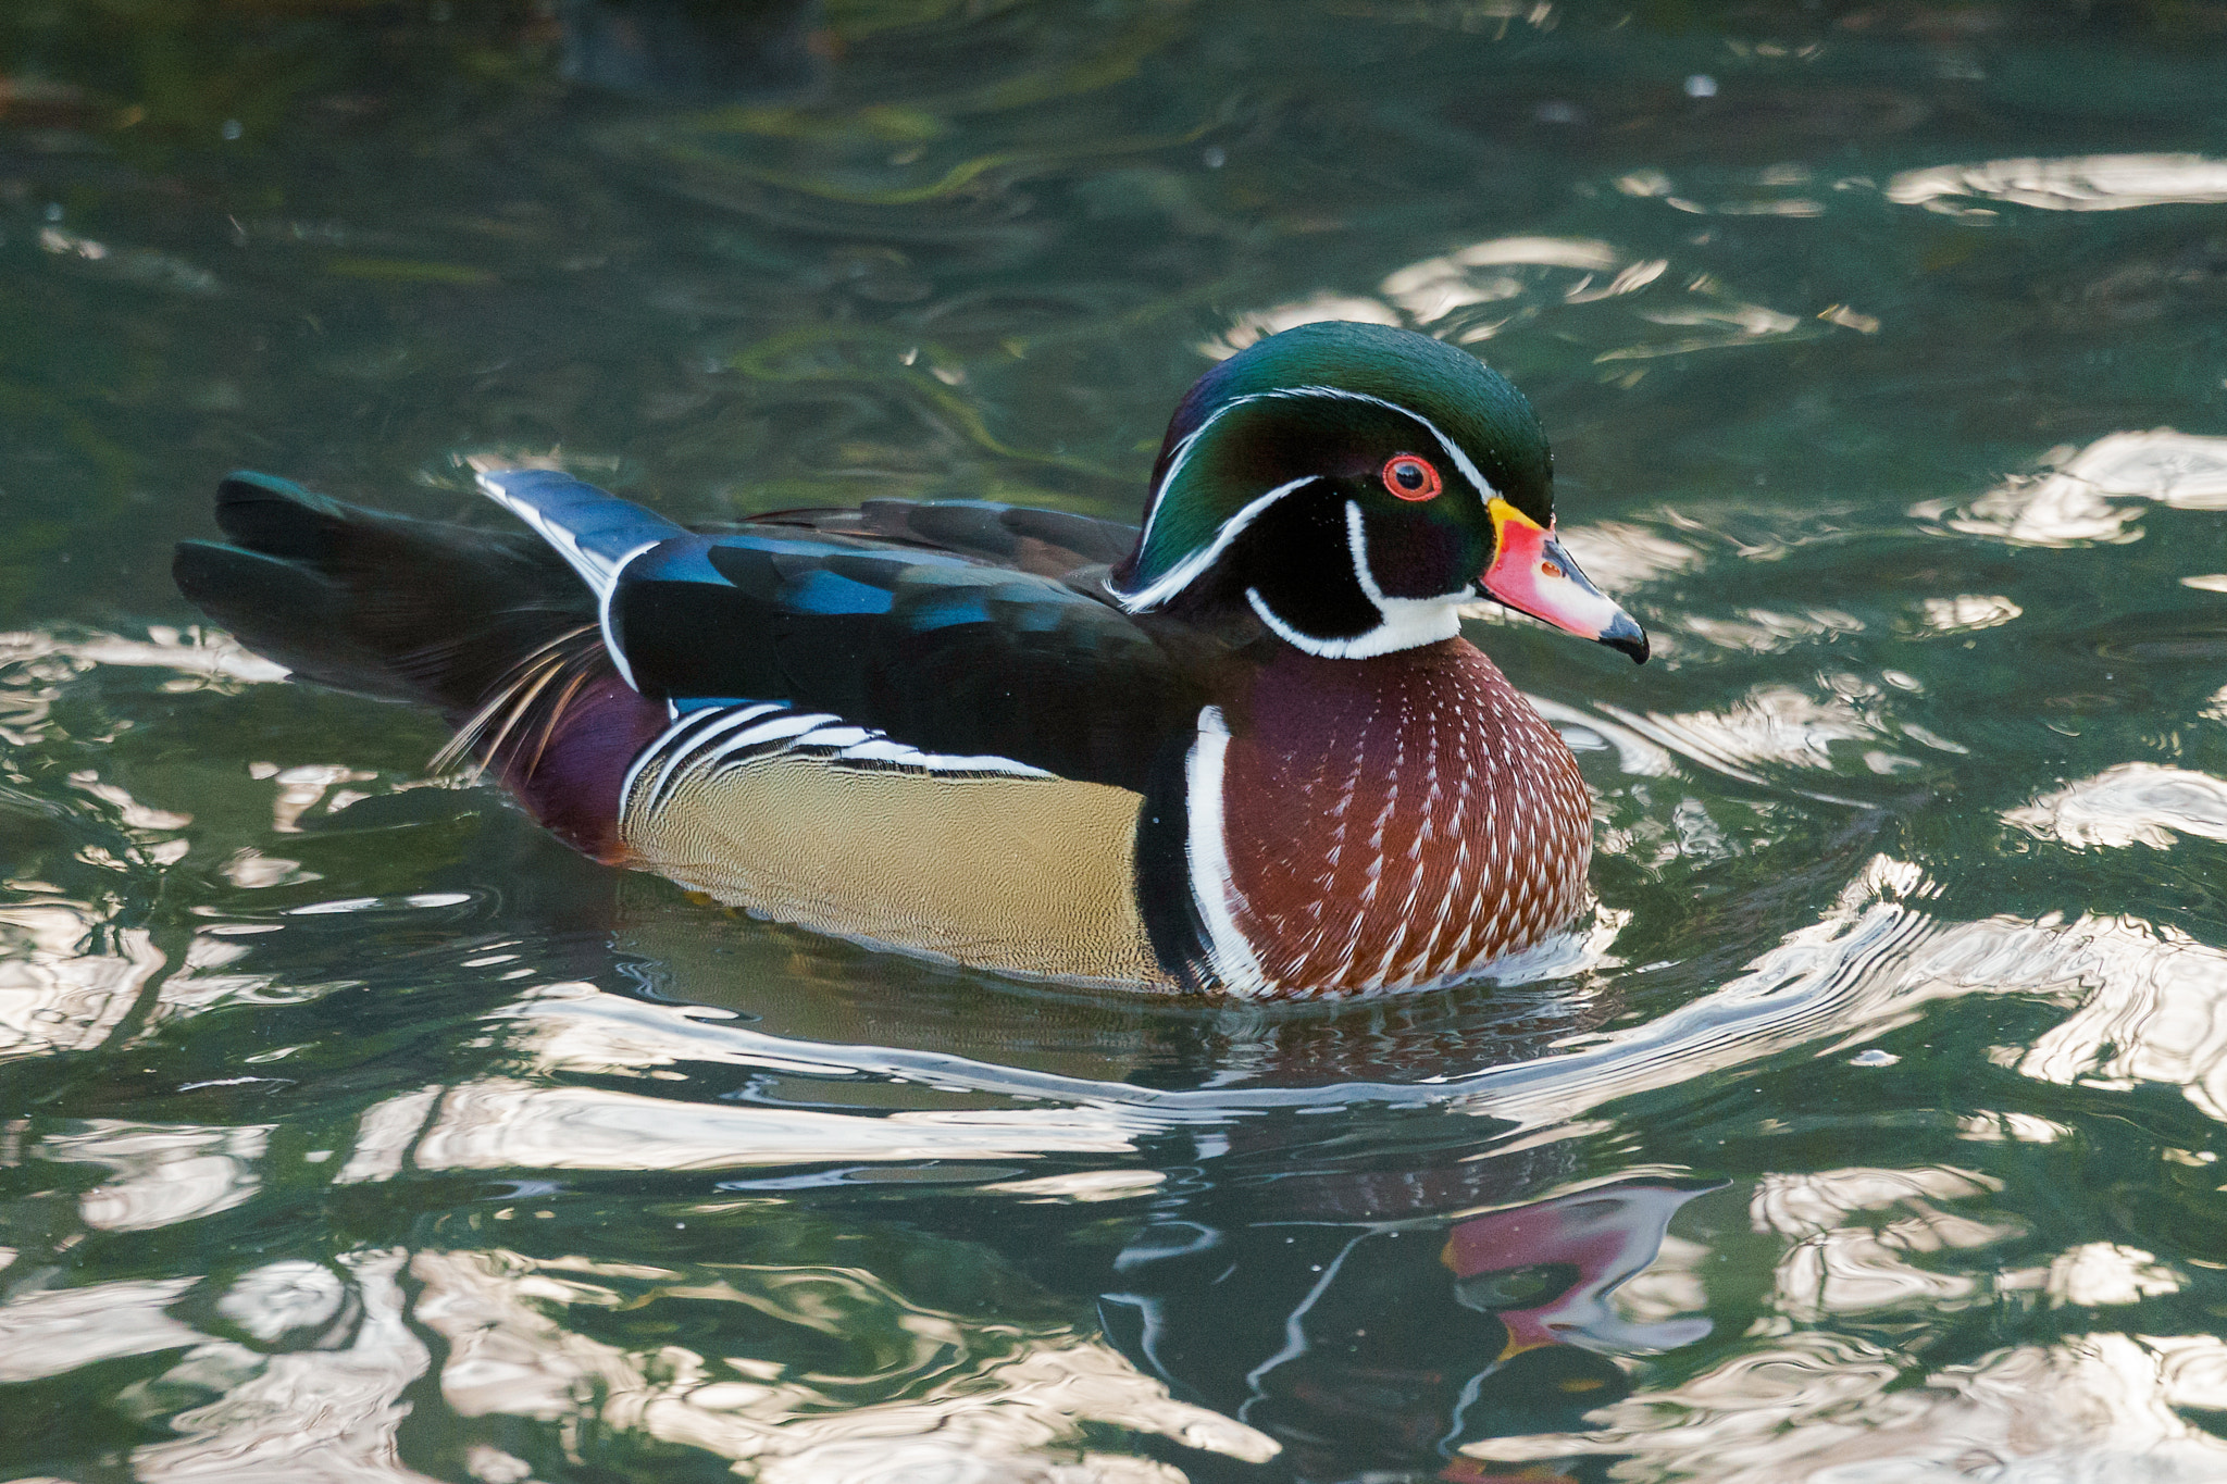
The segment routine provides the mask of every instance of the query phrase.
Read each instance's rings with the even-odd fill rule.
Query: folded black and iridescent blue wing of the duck
[[[481,483],[595,590],[626,681],[675,710],[788,701],[922,752],[1122,788],[1198,710],[1185,665],[1071,581],[1125,550],[1114,523],[875,501],[693,534],[561,474]]]

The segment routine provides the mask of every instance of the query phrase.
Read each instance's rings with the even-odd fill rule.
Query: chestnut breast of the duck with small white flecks
[[[1283,650],[1227,721],[1229,917],[1265,992],[1456,979],[1583,906],[1577,759],[1468,641]]]

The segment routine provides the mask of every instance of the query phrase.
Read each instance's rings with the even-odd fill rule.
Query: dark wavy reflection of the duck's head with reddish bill
[[[1461,1446],[1583,1431],[1586,1413],[1630,1391],[1612,1357],[1708,1335],[1708,1319],[1641,1324],[1608,1297],[1715,1184],[1617,1181],[1459,1219],[1416,1208],[1485,1195],[1494,1164],[1443,1184],[1298,1175],[1276,1181],[1287,1219],[1169,1213],[1129,1241],[1120,1288],[1098,1304],[1107,1339],[1176,1397],[1283,1444],[1269,1468],[1185,1455],[1198,1484],[1563,1477],[1512,1475]],[[1376,1219],[1341,1219],[1354,1201],[1383,1204]]]

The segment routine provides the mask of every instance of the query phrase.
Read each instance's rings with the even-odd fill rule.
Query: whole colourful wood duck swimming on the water
[[[579,850],[880,948],[1305,999],[1450,983],[1586,903],[1577,763],[1461,610],[1648,641],[1554,538],[1530,403],[1428,336],[1223,360],[1142,532],[978,501],[690,532],[552,469],[479,485],[534,534],[234,474],[176,581],[303,679],[439,708]]]

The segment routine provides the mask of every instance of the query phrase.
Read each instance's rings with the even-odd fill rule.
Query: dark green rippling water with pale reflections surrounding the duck
[[[2227,4],[753,16],[0,7],[0,1480],[2227,1477]],[[1655,634],[1472,630],[1525,983],[728,917],[167,581],[238,465],[1127,518],[1323,316]]]

